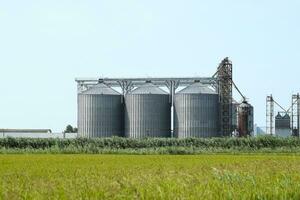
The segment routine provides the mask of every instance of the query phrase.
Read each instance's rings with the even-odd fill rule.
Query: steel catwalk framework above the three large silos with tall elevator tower
[[[78,93],[98,83],[105,83],[110,87],[119,87],[126,95],[135,87],[151,82],[158,87],[167,87],[170,94],[170,103],[174,106],[175,91],[180,86],[189,86],[195,82],[210,85],[219,94],[220,99],[220,132],[223,136],[232,133],[232,63],[226,57],[219,64],[218,70],[212,77],[174,77],[174,78],[76,78]]]

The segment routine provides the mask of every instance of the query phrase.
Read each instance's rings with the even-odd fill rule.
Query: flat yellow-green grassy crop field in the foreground
[[[0,155],[0,199],[300,199],[300,156]]]

